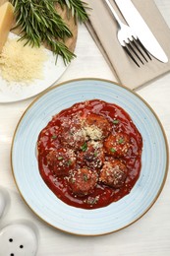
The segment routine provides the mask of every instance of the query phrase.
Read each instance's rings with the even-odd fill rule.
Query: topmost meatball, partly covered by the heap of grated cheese
[[[111,125],[103,116],[90,113],[85,118],[85,131],[91,140],[100,140],[109,135]]]

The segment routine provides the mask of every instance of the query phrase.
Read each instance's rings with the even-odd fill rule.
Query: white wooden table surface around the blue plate
[[[170,1],[155,2],[170,27]],[[79,28],[77,56],[58,82],[85,77],[115,81],[85,26]],[[156,112],[170,142],[170,74],[143,86],[136,92]],[[11,206],[0,221],[0,228],[20,219],[27,219],[36,224],[39,230],[38,256],[170,255],[170,173],[161,195],[147,214],[137,223],[109,235],[82,237],[67,234],[40,221],[29,210],[13,179],[10,153],[16,125],[32,99],[0,104],[0,186],[5,187],[11,197]]]

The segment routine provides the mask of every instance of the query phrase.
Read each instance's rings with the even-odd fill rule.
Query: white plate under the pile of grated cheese
[[[19,37],[10,32],[9,38]],[[0,102],[14,102],[26,99],[31,96],[36,96],[43,92],[48,87],[52,86],[66,71],[66,66],[61,56],[58,57],[57,64],[55,64],[56,57],[50,50],[45,49],[47,60],[43,66],[43,78],[33,80],[31,83],[17,83],[7,82],[0,75]]]

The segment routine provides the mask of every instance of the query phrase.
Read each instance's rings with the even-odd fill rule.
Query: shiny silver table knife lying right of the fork
[[[127,24],[136,32],[147,51],[161,62],[168,57],[131,0],[114,0]]]

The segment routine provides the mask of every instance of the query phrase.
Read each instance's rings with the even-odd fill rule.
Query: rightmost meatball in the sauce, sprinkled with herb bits
[[[125,157],[130,147],[130,137],[124,133],[111,134],[104,142],[106,154],[115,158]]]

